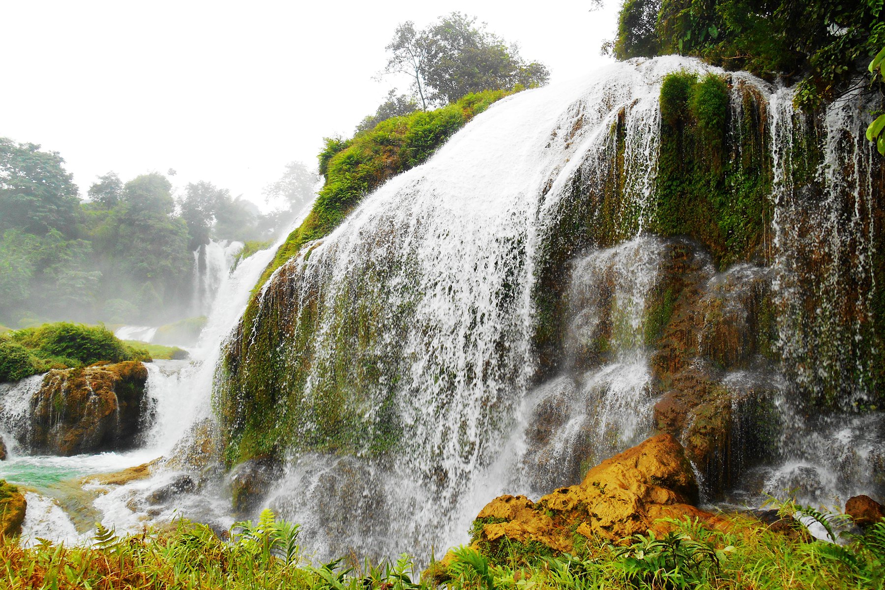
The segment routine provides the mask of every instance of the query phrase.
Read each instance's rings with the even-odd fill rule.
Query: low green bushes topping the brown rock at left
[[[58,322],[0,334],[0,382],[101,361],[150,360],[147,350],[119,340],[104,326]]]

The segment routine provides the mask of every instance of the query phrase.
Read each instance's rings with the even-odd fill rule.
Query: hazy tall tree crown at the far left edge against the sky
[[[80,195],[64,163],[58,152],[40,151],[35,143],[0,138],[0,231],[76,233]]]

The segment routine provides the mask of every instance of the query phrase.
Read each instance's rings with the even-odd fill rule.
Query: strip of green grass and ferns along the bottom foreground
[[[299,545],[299,527],[266,510],[257,522],[237,523],[230,540],[205,525],[180,520],[165,530],[119,537],[99,527],[91,548],[43,541],[21,548],[0,539],[5,588],[295,588],[304,590],[602,590],[658,588],[881,588],[885,522],[839,548],[801,534],[773,533],[758,521],[732,517],[728,530],[668,521],[666,535],[635,535],[618,546],[596,539],[575,555],[545,549],[494,557],[456,548],[419,574],[412,557],[359,562],[351,556],[312,564]]]

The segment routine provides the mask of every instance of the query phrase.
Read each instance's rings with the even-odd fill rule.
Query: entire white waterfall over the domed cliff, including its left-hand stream
[[[727,268],[697,236],[648,234],[661,227],[661,82],[680,71],[729,77],[741,149],[739,122],[767,113],[756,149],[772,160],[773,220]],[[304,526],[318,558],[439,553],[495,495],[576,483],[655,428],[708,475],[729,441],[761,447],[754,430],[775,429],[739,465],[744,497],[796,481],[815,497],[880,489],[881,413],[855,407],[873,399],[878,350],[864,104],[814,127],[790,98],[659,57],[496,103],[281,266],[226,341],[274,250],[237,267],[198,362],[150,367],[143,458],[172,458],[102,495],[104,524],[227,517],[187,459],[212,438],[213,379],[226,456],[285,449],[265,504]],[[834,399],[838,411],[809,410]]]

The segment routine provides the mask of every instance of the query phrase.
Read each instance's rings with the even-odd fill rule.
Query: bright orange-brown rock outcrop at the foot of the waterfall
[[[697,509],[697,498],[695,476],[681,445],[670,434],[658,434],[596,465],[581,484],[560,487],[538,502],[522,495],[489,502],[474,521],[473,540],[490,555],[502,543],[567,552],[573,549],[575,533],[617,542],[649,530],[666,532],[670,525],[658,522],[665,517],[726,525]]]

